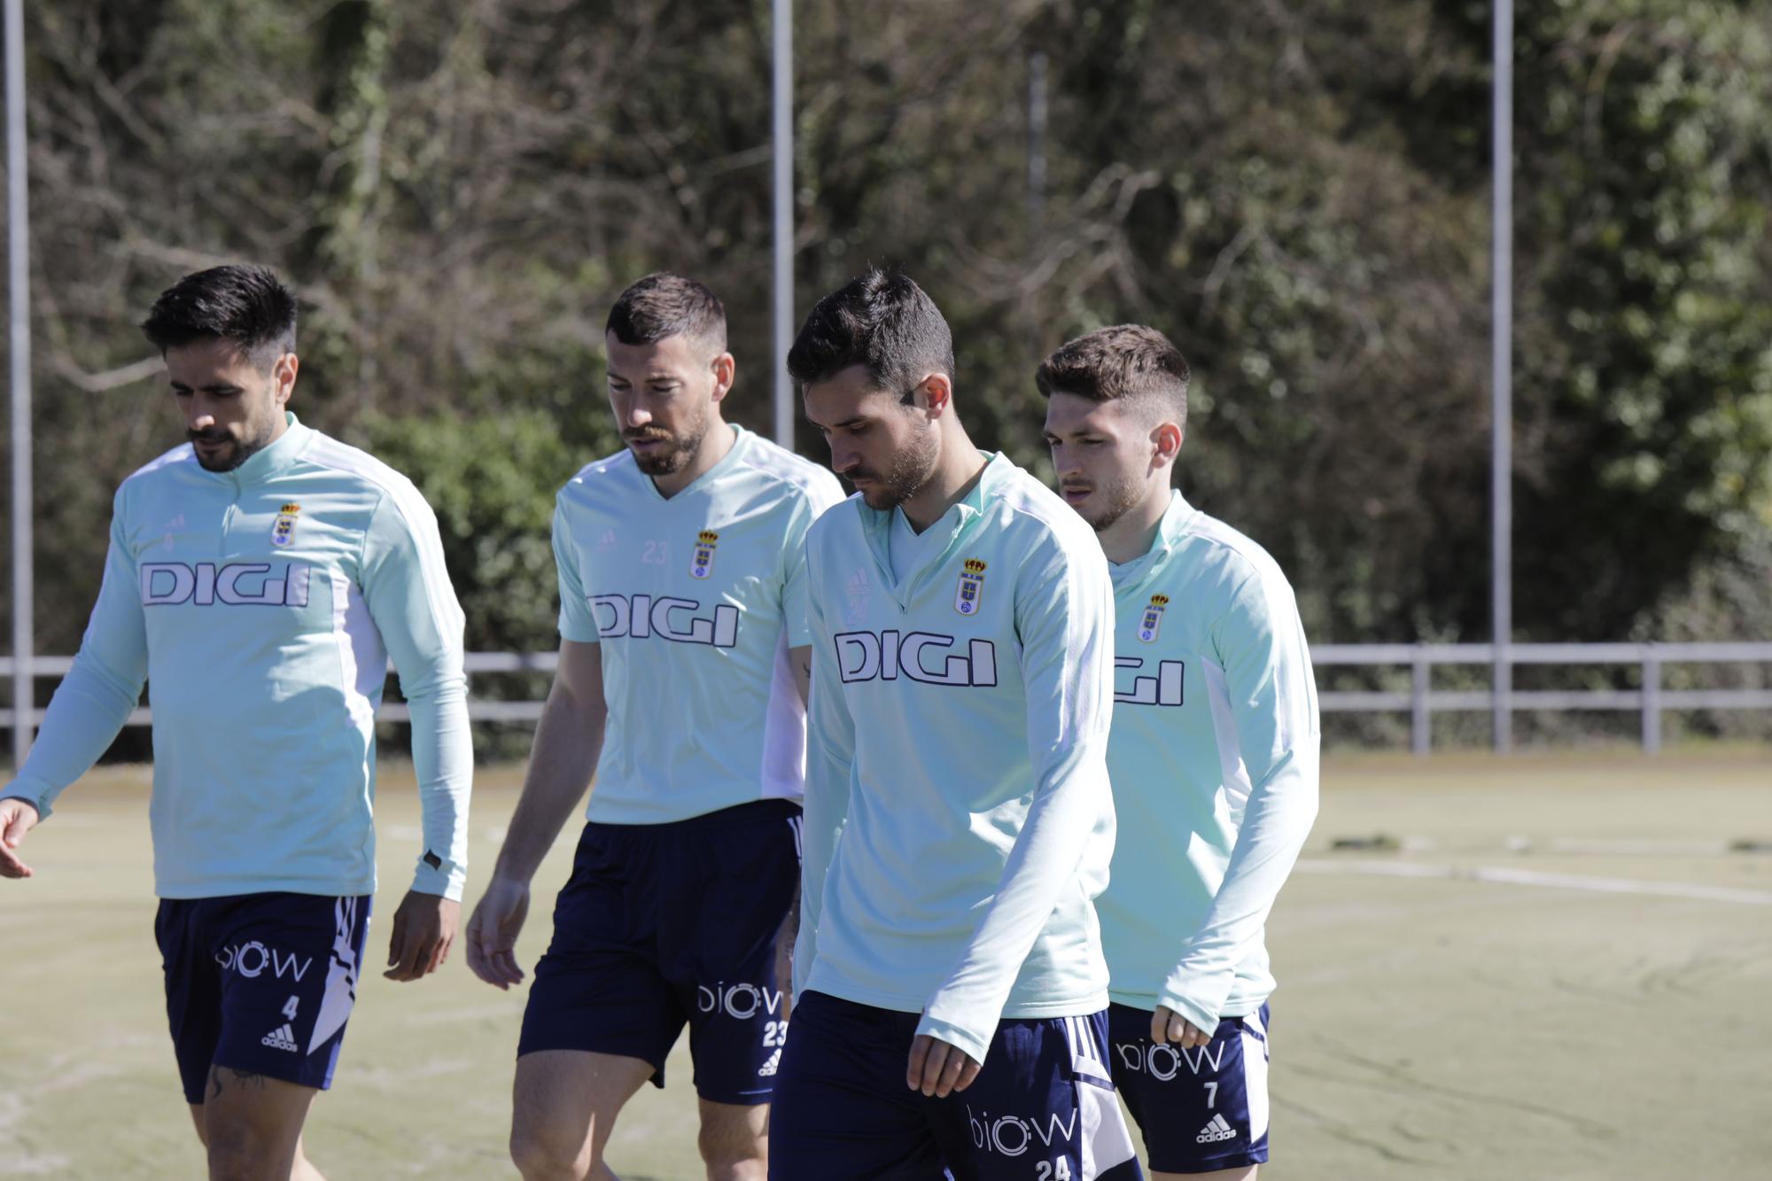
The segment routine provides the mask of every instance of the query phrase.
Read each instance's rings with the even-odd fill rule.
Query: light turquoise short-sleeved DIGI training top
[[[806,528],[843,498],[826,468],[742,427],[664,498],[633,454],[560,489],[560,635],[597,644],[610,708],[587,817],[659,825],[799,800]]]

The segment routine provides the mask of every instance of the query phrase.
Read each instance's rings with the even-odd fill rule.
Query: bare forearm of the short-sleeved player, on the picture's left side
[[[606,722],[608,709],[601,700],[583,702],[560,684],[548,693],[523,777],[523,796],[498,851],[496,874],[525,883],[535,876],[567,817],[585,798],[602,755]]]

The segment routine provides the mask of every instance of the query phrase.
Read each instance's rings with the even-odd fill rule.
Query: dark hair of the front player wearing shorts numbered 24
[[[865,365],[882,388],[911,401],[930,372],[953,378],[953,333],[929,294],[904,271],[870,270],[819,300],[787,353],[801,385]]]

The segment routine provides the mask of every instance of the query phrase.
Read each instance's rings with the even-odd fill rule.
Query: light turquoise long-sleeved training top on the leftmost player
[[[413,718],[413,888],[459,899],[473,750],[462,615],[411,481],[301,426],[234,472],[177,447],[117,488],[105,582],[18,778],[46,817],[152,686],[159,897],[376,890],[376,708]]]

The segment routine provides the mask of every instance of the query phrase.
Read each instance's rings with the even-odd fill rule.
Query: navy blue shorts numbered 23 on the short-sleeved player
[[[758,800],[670,825],[585,825],[535,965],[517,1055],[664,1059],[689,1025],[695,1091],[767,1103],[787,1009],[781,922],[799,885],[799,805]]]

